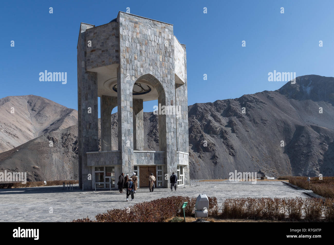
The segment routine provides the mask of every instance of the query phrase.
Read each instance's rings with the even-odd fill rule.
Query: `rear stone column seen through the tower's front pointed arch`
[[[133,99],[133,149],[144,150],[144,111],[143,100]]]

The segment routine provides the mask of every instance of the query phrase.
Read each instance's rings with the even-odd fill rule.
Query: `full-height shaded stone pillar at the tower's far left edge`
[[[99,150],[98,135],[98,84],[97,73],[86,71],[86,29],[93,25],[83,24],[77,46],[78,72],[78,175],[79,188],[92,189],[92,167],[87,166],[87,152]]]

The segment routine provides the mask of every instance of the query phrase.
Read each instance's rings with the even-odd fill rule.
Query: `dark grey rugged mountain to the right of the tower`
[[[317,75],[276,91],[191,105],[191,176],[227,178],[235,170],[333,176],[333,105],[334,78]]]

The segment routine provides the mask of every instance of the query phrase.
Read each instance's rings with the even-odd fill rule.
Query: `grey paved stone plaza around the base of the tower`
[[[199,182],[195,187],[179,187],[177,191],[160,188],[149,192],[148,188],[138,189],[135,200],[126,202],[126,194],[118,191],[83,191],[77,186],[73,191],[62,190],[62,186],[45,186],[15,189],[0,189],[0,221],[28,222],[66,222],[73,219],[89,217],[95,219],[98,213],[108,209],[125,208],[138,202],[150,201],[172,195],[197,197],[204,193],[215,196],[218,204],[226,198],[233,197],[304,197],[309,190],[295,189],[282,181]],[[49,213],[52,207],[53,213]]]

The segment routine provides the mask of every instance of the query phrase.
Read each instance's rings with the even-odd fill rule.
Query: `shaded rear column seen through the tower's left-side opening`
[[[101,109],[101,150],[111,151],[111,112],[117,106],[117,97],[102,95]]]

